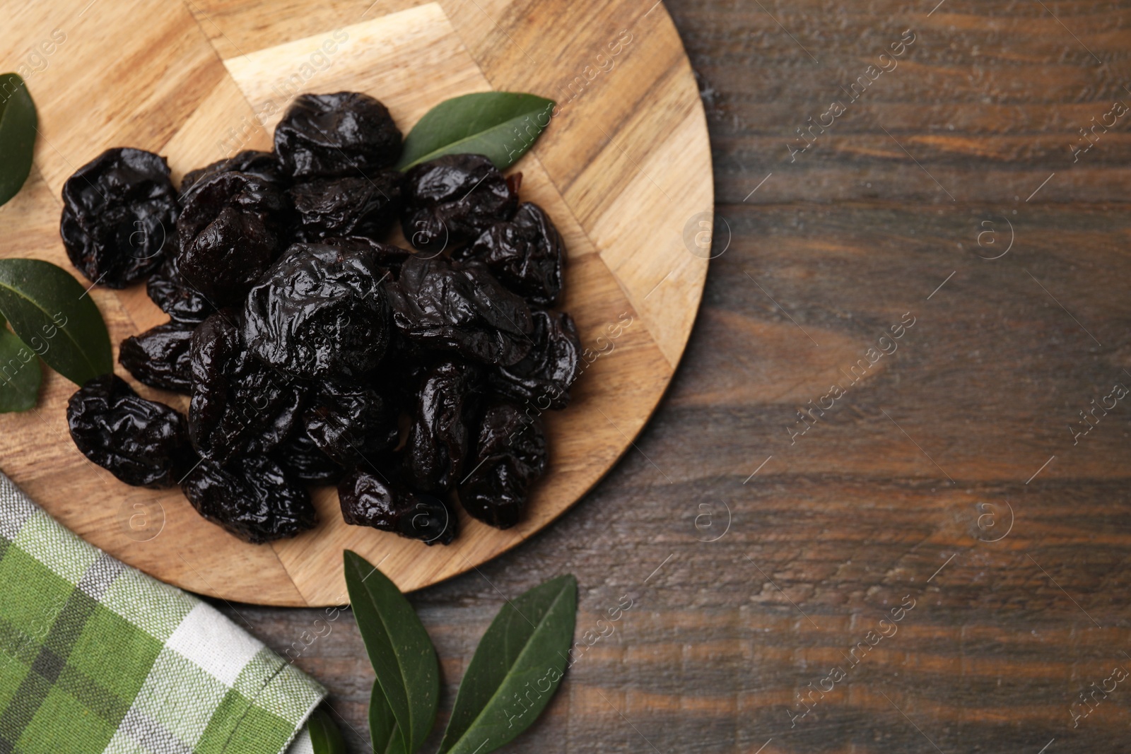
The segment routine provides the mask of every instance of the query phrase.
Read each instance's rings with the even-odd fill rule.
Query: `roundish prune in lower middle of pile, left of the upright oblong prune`
[[[397,415],[373,389],[347,392],[323,389],[303,414],[307,434],[314,444],[342,466],[353,467],[363,459],[397,444]]]

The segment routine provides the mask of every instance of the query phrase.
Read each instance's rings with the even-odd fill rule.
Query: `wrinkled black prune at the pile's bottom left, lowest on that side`
[[[253,545],[293,537],[318,523],[307,489],[264,456],[227,468],[205,459],[181,489],[200,515]]]

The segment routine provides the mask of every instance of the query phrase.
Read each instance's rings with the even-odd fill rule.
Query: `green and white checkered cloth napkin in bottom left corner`
[[[297,754],[325,695],[0,474],[0,754]]]

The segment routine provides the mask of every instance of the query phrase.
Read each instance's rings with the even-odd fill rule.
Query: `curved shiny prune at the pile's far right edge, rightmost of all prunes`
[[[499,366],[489,375],[491,387],[539,410],[566,408],[569,389],[581,365],[581,340],[573,318],[543,309],[530,312],[534,346],[523,361]]]

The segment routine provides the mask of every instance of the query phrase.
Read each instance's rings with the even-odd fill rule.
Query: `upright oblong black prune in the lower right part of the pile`
[[[442,361],[428,373],[405,444],[405,474],[409,485],[442,492],[459,482],[482,397],[482,374],[473,364]]]

